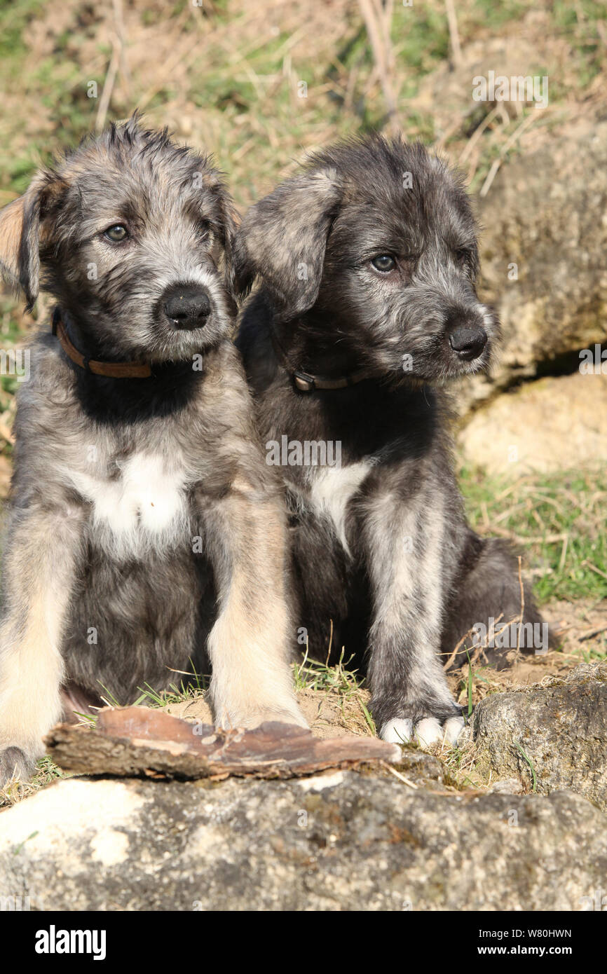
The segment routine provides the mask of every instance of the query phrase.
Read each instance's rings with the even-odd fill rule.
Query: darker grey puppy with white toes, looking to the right
[[[368,651],[388,740],[455,740],[439,653],[520,613],[511,551],[466,523],[436,389],[486,367],[498,337],[477,265],[458,176],[380,136],[315,156],[252,206],[237,241],[242,284],[261,280],[238,345],[269,462],[285,437],[299,624],[317,656],[331,637]],[[298,466],[288,451],[305,441],[340,444],[340,466],[306,465],[303,447]],[[524,621],[540,621],[529,591]]]

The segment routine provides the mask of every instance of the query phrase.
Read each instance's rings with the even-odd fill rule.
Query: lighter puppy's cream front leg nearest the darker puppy
[[[208,643],[215,723],[307,727],[288,664],[282,506],[237,479],[204,516],[219,603]]]

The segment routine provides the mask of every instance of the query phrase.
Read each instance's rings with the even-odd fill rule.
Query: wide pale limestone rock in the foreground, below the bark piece
[[[36,910],[580,910],[607,870],[576,795],[289,781],[63,780],[0,814],[0,888]]]

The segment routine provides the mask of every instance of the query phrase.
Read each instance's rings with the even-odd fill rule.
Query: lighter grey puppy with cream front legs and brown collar
[[[209,161],[136,120],[0,212],[0,262],[57,298],[19,391],[0,628],[0,782],[61,715],[192,660],[223,726],[305,723],[284,510],[231,342],[234,214]],[[223,265],[223,270],[220,265]]]

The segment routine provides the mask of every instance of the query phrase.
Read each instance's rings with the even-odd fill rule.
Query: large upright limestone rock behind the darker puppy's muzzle
[[[490,395],[607,341],[607,122],[580,123],[504,166],[479,217],[479,292],[504,329],[492,381],[476,383]]]

